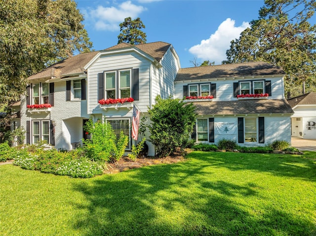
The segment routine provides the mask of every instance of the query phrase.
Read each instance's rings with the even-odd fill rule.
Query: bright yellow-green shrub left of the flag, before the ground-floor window
[[[118,141],[110,123],[95,122],[90,119],[85,130],[91,139],[83,140],[87,157],[92,161],[118,161],[125,152],[128,136],[120,133]]]

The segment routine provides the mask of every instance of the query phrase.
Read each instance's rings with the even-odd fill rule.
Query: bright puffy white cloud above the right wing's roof
[[[250,27],[248,22],[235,27],[235,21],[227,18],[214,34],[191,47],[189,51],[198,59],[215,62],[215,65],[221,64],[226,60],[226,50],[229,49],[231,41],[238,38],[239,34],[248,27]]]

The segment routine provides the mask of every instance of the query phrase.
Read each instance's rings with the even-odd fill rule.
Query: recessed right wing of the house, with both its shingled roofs
[[[291,142],[293,111],[284,97],[284,71],[264,62],[181,68],[175,97],[189,97],[197,107],[192,138],[217,143],[264,146],[275,140]],[[193,99],[212,96],[208,99]]]

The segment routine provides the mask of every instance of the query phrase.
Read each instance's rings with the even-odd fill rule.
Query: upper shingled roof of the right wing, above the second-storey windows
[[[224,64],[179,69],[175,81],[284,74],[281,67],[265,62]]]

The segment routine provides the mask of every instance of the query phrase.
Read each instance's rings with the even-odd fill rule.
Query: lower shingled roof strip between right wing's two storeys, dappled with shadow
[[[251,99],[237,101],[195,101],[198,115],[292,114],[285,99]]]

